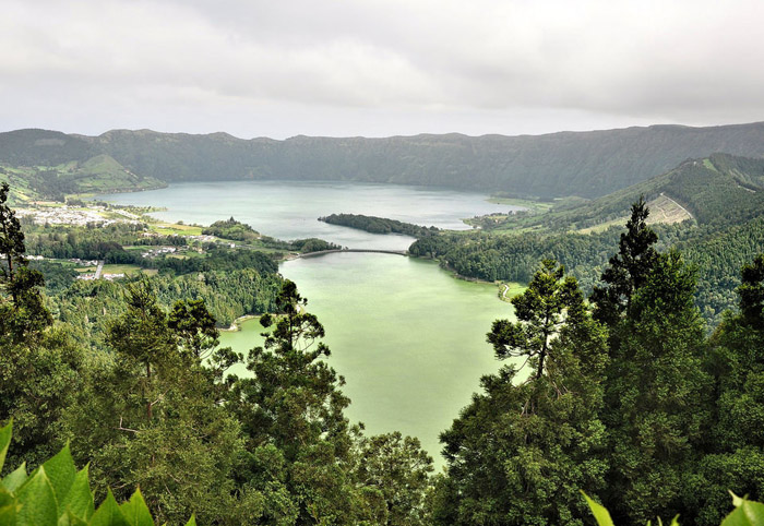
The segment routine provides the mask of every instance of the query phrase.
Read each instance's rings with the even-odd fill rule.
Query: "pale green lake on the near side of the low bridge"
[[[371,253],[327,254],[282,264],[326,328],[330,363],[345,376],[347,416],[370,433],[418,437],[433,455],[438,435],[499,362],[486,343],[511,315],[494,285],[455,279],[430,261]],[[258,320],[225,332],[246,351],[262,342]]]

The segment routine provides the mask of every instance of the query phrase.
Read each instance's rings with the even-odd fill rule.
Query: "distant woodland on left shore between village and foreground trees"
[[[237,248],[219,240],[189,247],[188,238],[154,235],[146,231],[145,225],[117,223],[96,228],[35,225],[28,220],[22,224],[27,252],[45,258],[31,261],[29,266],[45,276],[48,307],[58,319],[80,327],[82,340],[93,345],[99,345],[98,335],[109,319],[106,313],[112,315],[123,310],[123,287],[111,282],[80,280],[80,273],[71,264],[64,264],[67,260],[102,260],[106,264],[143,270],[143,274],[134,273],[122,282],[143,283],[165,308],[180,299],[204,298],[218,325],[228,327],[237,318],[261,314],[275,307],[283,282],[278,260],[289,253],[339,248],[315,238],[282,241],[267,236],[255,236],[254,244]],[[238,225],[241,224],[235,222],[236,231],[251,230]],[[215,231],[231,235],[229,230]],[[167,247],[184,253],[151,252]]]

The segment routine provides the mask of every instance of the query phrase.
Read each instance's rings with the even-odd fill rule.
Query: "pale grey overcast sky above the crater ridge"
[[[764,120],[764,2],[0,0],[0,130],[249,139]]]

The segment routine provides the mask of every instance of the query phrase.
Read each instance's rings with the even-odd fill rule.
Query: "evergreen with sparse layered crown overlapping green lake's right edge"
[[[435,524],[583,525],[578,490],[604,488],[606,332],[553,262],[513,303],[521,321],[497,322],[489,342],[499,356],[529,356],[535,372],[518,382],[510,364],[484,376],[484,393],[441,435],[447,476],[432,499]]]

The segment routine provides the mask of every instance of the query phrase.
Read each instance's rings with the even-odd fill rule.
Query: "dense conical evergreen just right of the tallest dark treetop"
[[[617,522],[694,515],[688,488],[707,440],[712,387],[694,290],[678,253],[657,255],[610,330],[604,420],[613,453],[605,499]]]

